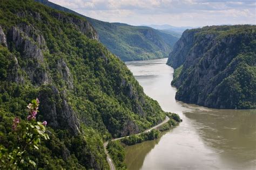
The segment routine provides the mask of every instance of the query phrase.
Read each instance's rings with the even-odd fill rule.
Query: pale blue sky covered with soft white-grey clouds
[[[131,25],[256,24],[256,0],[49,0],[85,16]]]

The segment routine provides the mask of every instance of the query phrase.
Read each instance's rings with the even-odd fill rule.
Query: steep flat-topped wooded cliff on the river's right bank
[[[176,69],[176,99],[211,108],[256,108],[256,26],[187,30],[167,64]]]

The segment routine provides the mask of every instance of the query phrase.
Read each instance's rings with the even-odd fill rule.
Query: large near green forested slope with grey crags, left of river
[[[85,18],[32,0],[0,2],[0,146],[14,116],[39,98],[50,140],[30,157],[37,168],[108,169],[103,141],[165,118],[132,73],[98,42]]]

